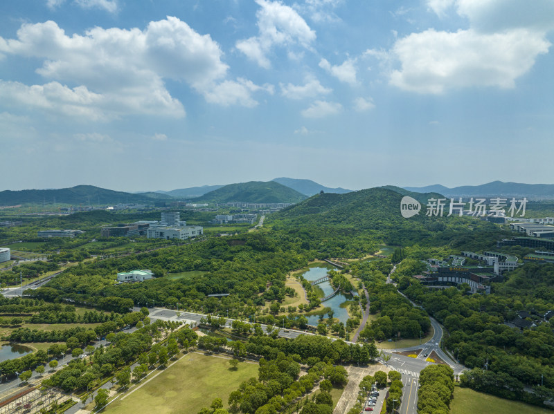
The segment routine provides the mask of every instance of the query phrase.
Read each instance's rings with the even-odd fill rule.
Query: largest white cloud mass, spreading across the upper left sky
[[[145,30],[96,27],[71,36],[53,21],[24,24],[17,39],[0,37],[0,53],[43,59],[37,73],[53,82],[42,86],[4,82],[1,87],[17,90],[16,101],[30,93],[38,99],[31,106],[58,109],[65,115],[80,113],[96,120],[125,114],[183,117],[184,108],[170,95],[164,78],[184,81],[208,102],[231,102],[214,98],[233,83],[224,80],[229,66],[222,62],[220,46],[176,17],[151,21]],[[240,83],[242,97],[234,102],[252,106],[250,94],[267,91],[248,82]]]

